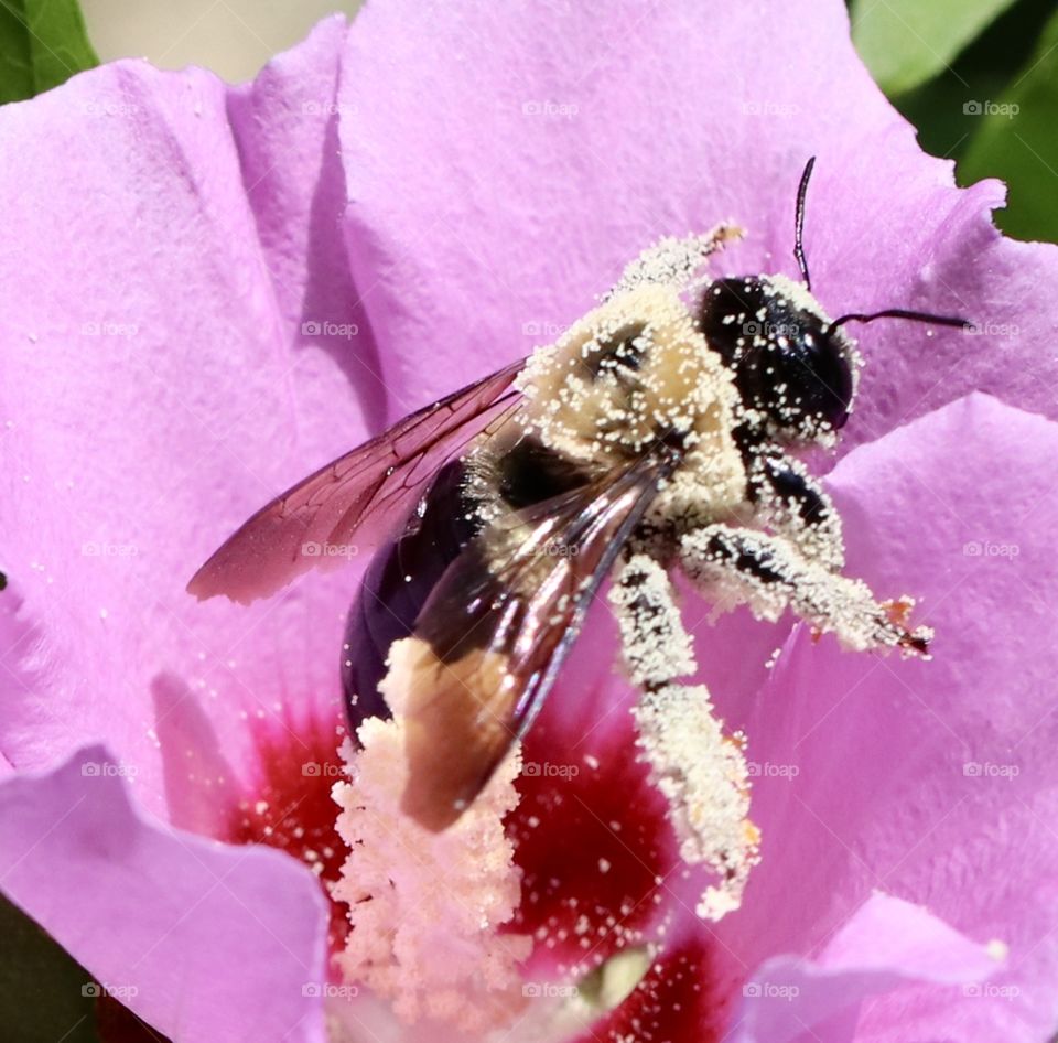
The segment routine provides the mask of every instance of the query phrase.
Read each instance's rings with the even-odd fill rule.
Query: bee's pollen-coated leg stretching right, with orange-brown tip
[[[932,632],[904,625],[914,602],[878,602],[863,580],[803,557],[789,540],[756,529],[709,525],[683,537],[680,564],[703,593],[733,595],[759,619],[792,609],[857,650],[897,647],[926,655]]]

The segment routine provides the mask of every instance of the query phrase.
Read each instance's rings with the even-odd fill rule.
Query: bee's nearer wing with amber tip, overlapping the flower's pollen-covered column
[[[455,821],[529,728],[670,467],[648,456],[523,512],[510,531],[486,528],[393,646],[384,685],[406,725],[402,806],[423,826]]]

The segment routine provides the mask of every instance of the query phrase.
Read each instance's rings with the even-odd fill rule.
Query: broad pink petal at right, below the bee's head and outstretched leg
[[[1054,1026],[1056,459],[1055,424],[980,395],[850,454],[832,477],[849,570],[883,596],[922,595],[933,660],[798,631],[752,703],[717,692],[749,735],[764,834],[744,905],[717,931],[734,967],[810,953],[875,889],[1010,946],[994,991],[877,1001],[864,1040],[908,1039],[898,1023],[1028,1043]]]

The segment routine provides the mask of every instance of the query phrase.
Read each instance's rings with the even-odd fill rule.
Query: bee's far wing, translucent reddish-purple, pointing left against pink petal
[[[188,592],[250,602],[313,567],[347,562],[407,514],[445,460],[514,407],[522,364],[411,413],[289,488],[213,553]]]

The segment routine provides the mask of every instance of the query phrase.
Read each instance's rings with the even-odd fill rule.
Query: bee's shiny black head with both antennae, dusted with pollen
[[[797,192],[794,256],[801,281],[786,276],[719,279],[702,298],[699,326],[709,346],[734,372],[735,387],[751,420],[782,442],[828,444],[849,419],[861,356],[841,329],[846,322],[910,319],[965,326],[964,319],[900,308],[873,314],[827,316],[811,293],[802,234],[808,161]]]

